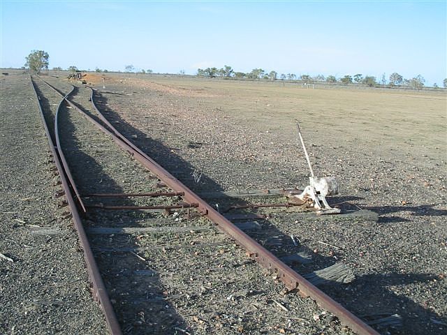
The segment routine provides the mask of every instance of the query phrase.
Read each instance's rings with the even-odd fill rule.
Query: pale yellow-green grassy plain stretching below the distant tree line
[[[139,76],[143,85],[173,94],[200,110],[225,114],[279,138],[296,135],[331,145],[353,143],[358,150],[395,156],[446,159],[447,90],[328,88],[316,84],[242,82],[199,78]],[[144,78],[144,79],[143,79]],[[134,78],[132,78],[134,80]]]

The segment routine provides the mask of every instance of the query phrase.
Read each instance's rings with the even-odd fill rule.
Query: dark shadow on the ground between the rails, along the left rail
[[[76,94],[78,89],[75,89]],[[90,114],[82,106],[81,110]],[[71,121],[71,113],[78,113],[73,109],[63,108],[60,113],[61,146],[70,165],[73,178],[81,194],[91,193],[124,193],[123,189],[112,177],[103,170],[98,156],[103,153],[96,152],[89,156],[82,152],[82,138],[78,137]],[[81,131],[82,133],[82,131]],[[107,153],[106,153],[107,154]],[[122,198],[119,200],[85,199],[86,203],[134,205],[132,200]],[[91,209],[85,216],[84,225],[89,235],[89,241],[94,251],[96,262],[103,276],[108,294],[122,326],[124,334],[175,334],[176,328],[186,329],[184,319],[178,315],[165,298],[165,288],[160,281],[159,269],[149,266],[150,260],[142,261],[137,255],[129,251],[133,249],[137,240],[130,234],[89,234],[91,227],[114,227],[115,223],[127,226],[140,226],[141,217],[149,216],[142,211],[104,211]],[[192,332],[189,332],[192,334]]]

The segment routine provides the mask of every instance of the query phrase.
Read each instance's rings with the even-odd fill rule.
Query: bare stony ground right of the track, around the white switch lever
[[[321,265],[336,258],[355,270],[349,287],[324,290],[357,315],[397,313],[396,334],[446,332],[446,91],[154,75],[96,88],[119,130],[198,193],[305,186],[300,121],[316,174],[342,186],[332,203],[379,220],[286,213],[268,224],[298,237]]]

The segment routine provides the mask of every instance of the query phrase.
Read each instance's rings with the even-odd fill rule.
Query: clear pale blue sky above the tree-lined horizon
[[[1,67],[447,77],[447,1],[1,0]]]

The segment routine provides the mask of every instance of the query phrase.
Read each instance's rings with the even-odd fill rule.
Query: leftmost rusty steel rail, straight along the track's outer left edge
[[[45,121],[45,116],[43,114],[41,103],[39,102],[36,86],[31,77],[30,81],[31,87],[33,87],[34,93],[36,94],[36,101],[38,101],[38,107],[41,112],[43,128],[45,129],[45,133],[47,135],[48,144],[50,144],[52,156],[54,157],[54,163],[56,164],[57,170],[59,171],[59,177],[61,179],[62,187],[65,191],[66,200],[73,216],[73,223],[75,225],[76,232],[78,232],[78,237],[80,239],[82,249],[84,250],[84,258],[87,265],[87,274],[89,275],[89,280],[91,281],[91,286],[94,292],[94,299],[98,301],[98,304],[103,309],[105,321],[110,334],[122,335],[121,327],[119,326],[117,316],[115,314],[115,311],[113,310],[113,306],[110,302],[110,298],[108,297],[107,290],[105,289],[105,285],[103,279],[101,278],[98,265],[96,264],[93,251],[91,251],[91,246],[89,244],[89,240],[87,239],[87,234],[85,233],[84,227],[82,225],[82,221],[78,213],[78,207],[76,206],[75,200],[71,195],[71,188],[69,187],[68,181],[66,179],[66,172],[63,165],[61,164],[59,152],[57,151],[57,147],[54,146],[50,130],[48,129],[47,122]]]

